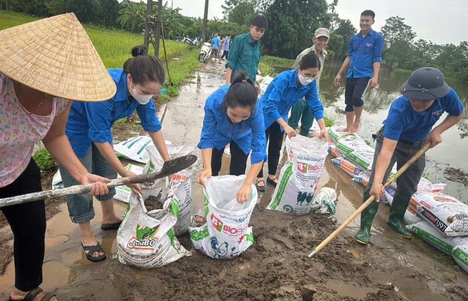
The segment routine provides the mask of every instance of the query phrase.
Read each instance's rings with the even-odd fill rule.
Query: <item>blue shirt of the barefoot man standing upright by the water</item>
[[[358,32],[349,40],[348,53],[351,57],[347,78],[372,77],[374,62],[382,63],[382,49],[384,45],[383,37],[380,33],[370,30],[363,38]]]

